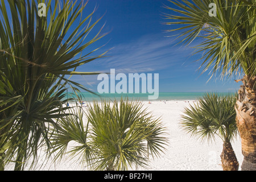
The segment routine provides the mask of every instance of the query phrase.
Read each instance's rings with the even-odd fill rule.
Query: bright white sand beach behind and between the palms
[[[184,133],[179,127],[180,114],[184,107],[193,104],[193,101],[143,101],[144,106],[148,107],[148,111],[152,111],[152,115],[161,116],[162,122],[168,128],[169,144],[165,154],[162,154],[158,159],[152,159],[148,168],[138,168],[137,170],[152,170],[152,171],[216,171],[222,170],[220,154],[222,151],[222,140],[216,139],[216,142],[202,143],[201,140],[191,137]],[[86,107],[84,107],[86,109]],[[70,146],[72,146],[71,143]],[[234,152],[240,166],[242,164],[241,141],[232,142]],[[44,159],[44,154],[40,155]],[[66,157],[60,163],[52,163],[50,160],[44,164],[38,163],[35,170],[88,170],[86,167],[81,167],[77,156],[75,159],[67,160]],[[6,167],[6,170],[12,170],[12,166]],[[240,168],[241,169],[241,168]],[[26,169],[28,170],[28,168]],[[136,170],[136,169],[133,169]]]

